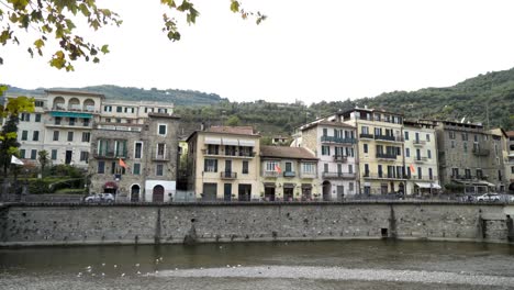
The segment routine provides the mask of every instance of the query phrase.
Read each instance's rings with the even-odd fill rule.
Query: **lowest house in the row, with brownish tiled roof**
[[[320,199],[317,158],[306,148],[260,147],[260,199],[309,201]]]

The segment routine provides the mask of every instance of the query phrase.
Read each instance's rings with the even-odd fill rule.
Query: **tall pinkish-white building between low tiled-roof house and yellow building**
[[[343,200],[356,194],[355,127],[322,119],[301,126],[299,133],[291,146],[308,148],[319,158],[317,177],[323,187],[323,200]]]

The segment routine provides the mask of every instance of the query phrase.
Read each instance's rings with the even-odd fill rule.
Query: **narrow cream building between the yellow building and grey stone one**
[[[433,194],[442,189],[437,141],[431,121],[404,121],[405,194]]]

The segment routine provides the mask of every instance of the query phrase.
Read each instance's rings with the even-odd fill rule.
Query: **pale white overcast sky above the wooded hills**
[[[109,44],[100,64],[74,72],[47,64],[56,46],[31,58],[26,44],[0,47],[0,82],[38,87],[183,89],[231,101],[305,103],[447,87],[514,67],[514,1],[242,0],[268,15],[260,25],[230,11],[230,0],[193,0],[195,25],[179,23],[180,42],[161,32],[158,0],[98,0],[120,27],[79,33]],[[80,24],[80,23],[78,23]],[[53,49],[49,49],[53,48]]]

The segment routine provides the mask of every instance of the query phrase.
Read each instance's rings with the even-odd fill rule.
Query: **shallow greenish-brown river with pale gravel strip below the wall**
[[[3,248],[0,289],[514,289],[514,246],[343,241]]]

